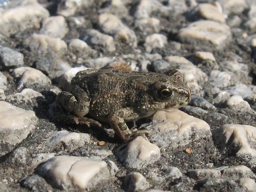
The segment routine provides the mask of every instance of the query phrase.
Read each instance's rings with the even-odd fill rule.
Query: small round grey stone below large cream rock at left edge
[[[18,147],[12,152],[12,162],[17,166],[25,166],[31,162],[30,156],[28,148]]]

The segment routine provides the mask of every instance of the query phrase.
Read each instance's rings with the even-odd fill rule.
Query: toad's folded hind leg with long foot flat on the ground
[[[73,93],[73,94],[72,94]],[[56,114],[60,122],[69,124],[101,124],[91,118],[84,117],[89,112],[89,96],[80,87],[74,87],[72,93],[62,91],[56,97]]]

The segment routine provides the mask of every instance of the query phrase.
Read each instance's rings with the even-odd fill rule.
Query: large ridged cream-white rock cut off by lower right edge
[[[256,156],[256,127],[241,124],[224,124],[220,128],[219,134],[223,134],[225,141],[216,139],[217,142],[228,144],[232,138],[232,144],[238,146],[240,149],[237,155],[251,155]],[[222,137],[221,137],[222,138]],[[232,147],[232,146],[226,146]]]

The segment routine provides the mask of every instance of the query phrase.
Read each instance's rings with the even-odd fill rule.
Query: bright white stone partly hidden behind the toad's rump
[[[67,70],[60,78],[59,80],[59,87],[63,91],[69,91],[71,79],[76,75],[77,72],[88,70],[89,68],[86,67],[77,67],[77,68],[71,68],[70,70]]]

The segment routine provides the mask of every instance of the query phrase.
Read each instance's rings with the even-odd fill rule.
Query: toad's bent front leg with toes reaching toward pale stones
[[[138,130],[132,132],[125,121],[138,119],[139,115],[134,113],[131,108],[122,108],[109,115],[109,122],[115,133],[124,141],[129,142],[137,136],[145,137],[145,134],[151,133],[147,130]]]

